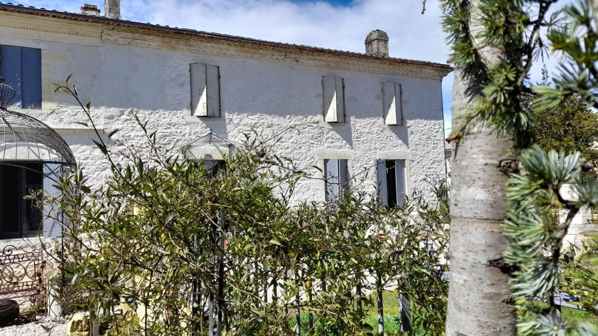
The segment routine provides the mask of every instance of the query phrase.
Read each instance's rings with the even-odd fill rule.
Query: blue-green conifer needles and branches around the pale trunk
[[[451,60],[460,74],[456,80],[465,87],[464,96],[471,105],[457,118],[458,127],[449,140],[457,142],[457,155],[460,144],[478,136],[484,127],[492,130],[497,141],[512,141],[511,158],[495,158],[496,166],[509,176],[505,198],[499,200],[509,206],[502,227],[508,245],[503,258],[489,260],[487,266],[497,267],[511,277],[511,300],[501,300],[518,308],[519,332],[596,335],[590,325],[575,326],[563,319],[555,297],[559,290],[579,294],[583,306],[596,313],[596,268],[588,264],[595,258],[596,241],[590,239],[585,246],[578,246],[578,252],[582,252],[573,261],[563,258],[562,250],[573,216],[581,207],[596,205],[598,188],[593,178],[579,169],[584,163],[579,153],[546,152],[534,145],[530,106],[534,114],[552,112],[572,96],[581,97],[588,106],[598,106],[598,12],[587,0],[565,5],[562,11],[548,16],[556,2],[441,2],[444,27],[453,48]],[[547,56],[547,48],[563,59],[555,78],[557,86],[530,87],[526,78],[532,63]],[[487,50],[493,49],[499,56],[490,59]],[[532,93],[538,98],[528,104],[526,99]],[[484,143],[478,145],[478,149],[484,149]],[[575,199],[562,195],[565,183],[575,183]],[[451,236],[452,239],[455,234]],[[581,273],[576,273],[576,269]],[[549,307],[539,309],[530,304],[538,298],[548,300]],[[449,297],[449,304],[450,300]],[[469,324],[479,321],[483,322],[483,318]],[[507,322],[508,317],[502,321]],[[515,334],[517,330],[504,328],[497,332]]]

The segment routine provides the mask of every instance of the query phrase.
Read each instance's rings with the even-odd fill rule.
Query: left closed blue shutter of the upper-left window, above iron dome
[[[9,108],[21,108],[23,101],[23,75],[21,73],[21,47],[0,45],[0,76],[4,84],[14,88],[16,94],[8,104]]]

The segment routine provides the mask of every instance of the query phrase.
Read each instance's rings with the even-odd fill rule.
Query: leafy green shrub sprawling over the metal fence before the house
[[[79,101],[68,80],[57,90]],[[81,107],[95,129],[90,104]],[[57,183],[62,194],[42,200],[64,227],[65,304],[90,310],[114,334],[206,335],[212,297],[227,335],[294,334],[297,311],[304,331],[311,314],[314,334],[361,335],[372,332],[363,322],[372,293],[398,286],[412,300],[414,330],[442,332],[446,188],[437,202],[416,194],[383,207],[360,191],[371,167],[337,202],[297,201],[295,188],[313,174],[274,148],[299,127],[246,135],[214,175],[135,118],[144,143],[98,137],[111,172],[102,185],[88,187],[78,169]]]

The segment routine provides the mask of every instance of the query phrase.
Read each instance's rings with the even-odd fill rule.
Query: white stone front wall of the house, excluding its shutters
[[[298,126],[300,133],[286,133],[276,150],[301,166],[346,158],[351,173],[373,169],[379,158],[405,159],[409,193],[427,190],[427,177],[445,176],[441,80],[448,66],[2,9],[0,45],[41,49],[42,108],[22,112],[63,136],[91,184],[103,181],[108,164],[77,124],[87,120],[74,99],[53,92],[52,83],[69,74],[84,103],[91,101],[97,127],[106,134],[122,129],[115,138],[131,143],[144,141],[132,111],[167,146],[210,130],[239,141],[252,128]],[[191,63],[219,67],[221,117],[191,115]],[[323,76],[344,78],[346,123],[324,122]],[[382,83],[401,84],[404,126],[384,124]],[[375,174],[369,176],[365,188],[373,191]],[[324,200],[322,181],[298,188],[305,199]]]

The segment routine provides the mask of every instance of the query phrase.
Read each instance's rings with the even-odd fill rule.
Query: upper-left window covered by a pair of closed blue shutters
[[[16,91],[9,108],[41,109],[41,50],[0,45],[0,76]]]

